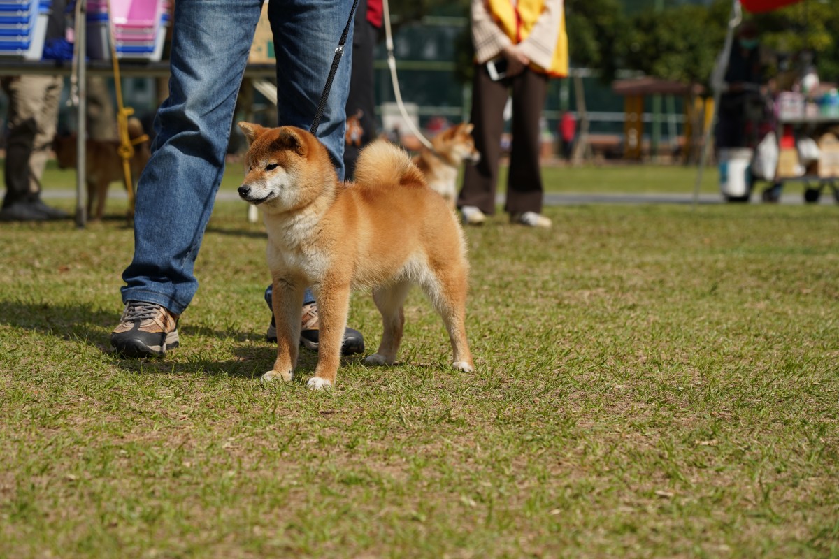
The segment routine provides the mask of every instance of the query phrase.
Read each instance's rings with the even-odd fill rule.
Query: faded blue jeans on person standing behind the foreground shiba
[[[352,0],[271,0],[280,125],[308,130]],[[154,120],[152,156],[140,176],[134,256],[122,301],[183,313],[198,281],[195,258],[224,174],[224,157],[262,0],[178,0],[169,98]],[[340,179],[350,84],[352,25],[318,137]]]

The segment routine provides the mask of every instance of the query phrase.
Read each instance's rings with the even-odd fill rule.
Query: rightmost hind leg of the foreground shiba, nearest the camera
[[[458,263],[422,283],[423,290],[443,318],[454,355],[451,366],[466,373],[475,370],[466,340],[466,265]]]

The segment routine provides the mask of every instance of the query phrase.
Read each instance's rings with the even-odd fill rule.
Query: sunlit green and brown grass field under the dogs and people
[[[108,350],[122,220],[0,224],[0,556],[839,556],[836,207],[545,212],[466,231],[475,373],[414,292],[399,365],[331,393],[305,350],[259,381],[243,204],[163,360]],[[350,323],[375,349],[369,294]]]

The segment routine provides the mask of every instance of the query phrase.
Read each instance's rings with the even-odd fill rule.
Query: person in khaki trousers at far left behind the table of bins
[[[64,36],[64,2],[53,6],[47,39]],[[41,200],[41,179],[58,127],[58,106],[64,78],[57,75],[15,75],[0,80],[8,96],[8,133],[3,179],[6,195],[0,221],[64,219],[66,212]]]

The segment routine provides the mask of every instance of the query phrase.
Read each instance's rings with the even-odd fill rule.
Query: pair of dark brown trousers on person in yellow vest
[[[475,147],[481,152],[477,165],[466,167],[457,207],[477,206],[484,214],[495,213],[498,160],[504,131],[504,106],[513,96],[513,145],[507,179],[509,214],[541,213],[544,192],[539,168],[539,118],[548,93],[548,78],[532,70],[492,81],[483,65],[475,66],[472,87],[472,124]]]

